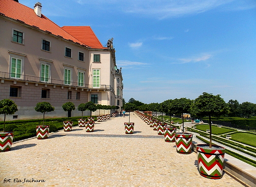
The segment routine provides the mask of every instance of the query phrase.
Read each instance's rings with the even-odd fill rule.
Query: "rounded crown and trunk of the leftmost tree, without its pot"
[[[5,132],[5,116],[14,114],[18,111],[18,107],[13,100],[3,99],[0,101],[0,114],[4,114],[3,132]]]

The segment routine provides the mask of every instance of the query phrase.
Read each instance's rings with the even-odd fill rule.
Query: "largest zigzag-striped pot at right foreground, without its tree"
[[[225,148],[207,144],[196,145],[198,169],[200,175],[210,179],[221,179],[223,176]]]

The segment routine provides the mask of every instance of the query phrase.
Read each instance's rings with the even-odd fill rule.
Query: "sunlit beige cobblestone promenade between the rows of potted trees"
[[[128,116],[118,116],[94,132],[74,127],[13,144],[0,153],[0,187],[243,187],[227,174],[200,176],[195,153],[178,154],[133,113],[130,121],[134,134],[125,134]]]

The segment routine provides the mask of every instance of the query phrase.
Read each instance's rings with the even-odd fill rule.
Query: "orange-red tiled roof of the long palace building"
[[[14,20],[20,20],[27,25],[35,26],[42,31],[51,32],[54,35],[62,36],[64,39],[72,40],[73,42],[77,42],[81,45],[87,45],[97,49],[105,49],[89,26],[75,27],[86,28],[79,29],[78,31],[75,31],[74,27],[66,27],[65,31],[54,22],[49,20],[47,17],[45,17],[43,14],[41,17],[39,17],[35,14],[32,8],[29,8],[14,0],[0,0],[0,13],[4,14],[6,17],[12,18]],[[70,30],[70,32],[68,32],[68,30]]]

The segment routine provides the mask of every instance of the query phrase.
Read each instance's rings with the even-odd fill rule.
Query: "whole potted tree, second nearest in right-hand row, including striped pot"
[[[192,152],[192,133],[184,131],[184,113],[189,113],[192,101],[187,98],[172,100],[172,109],[176,114],[182,114],[182,132],[175,133],[176,151],[180,154],[190,154]]]

